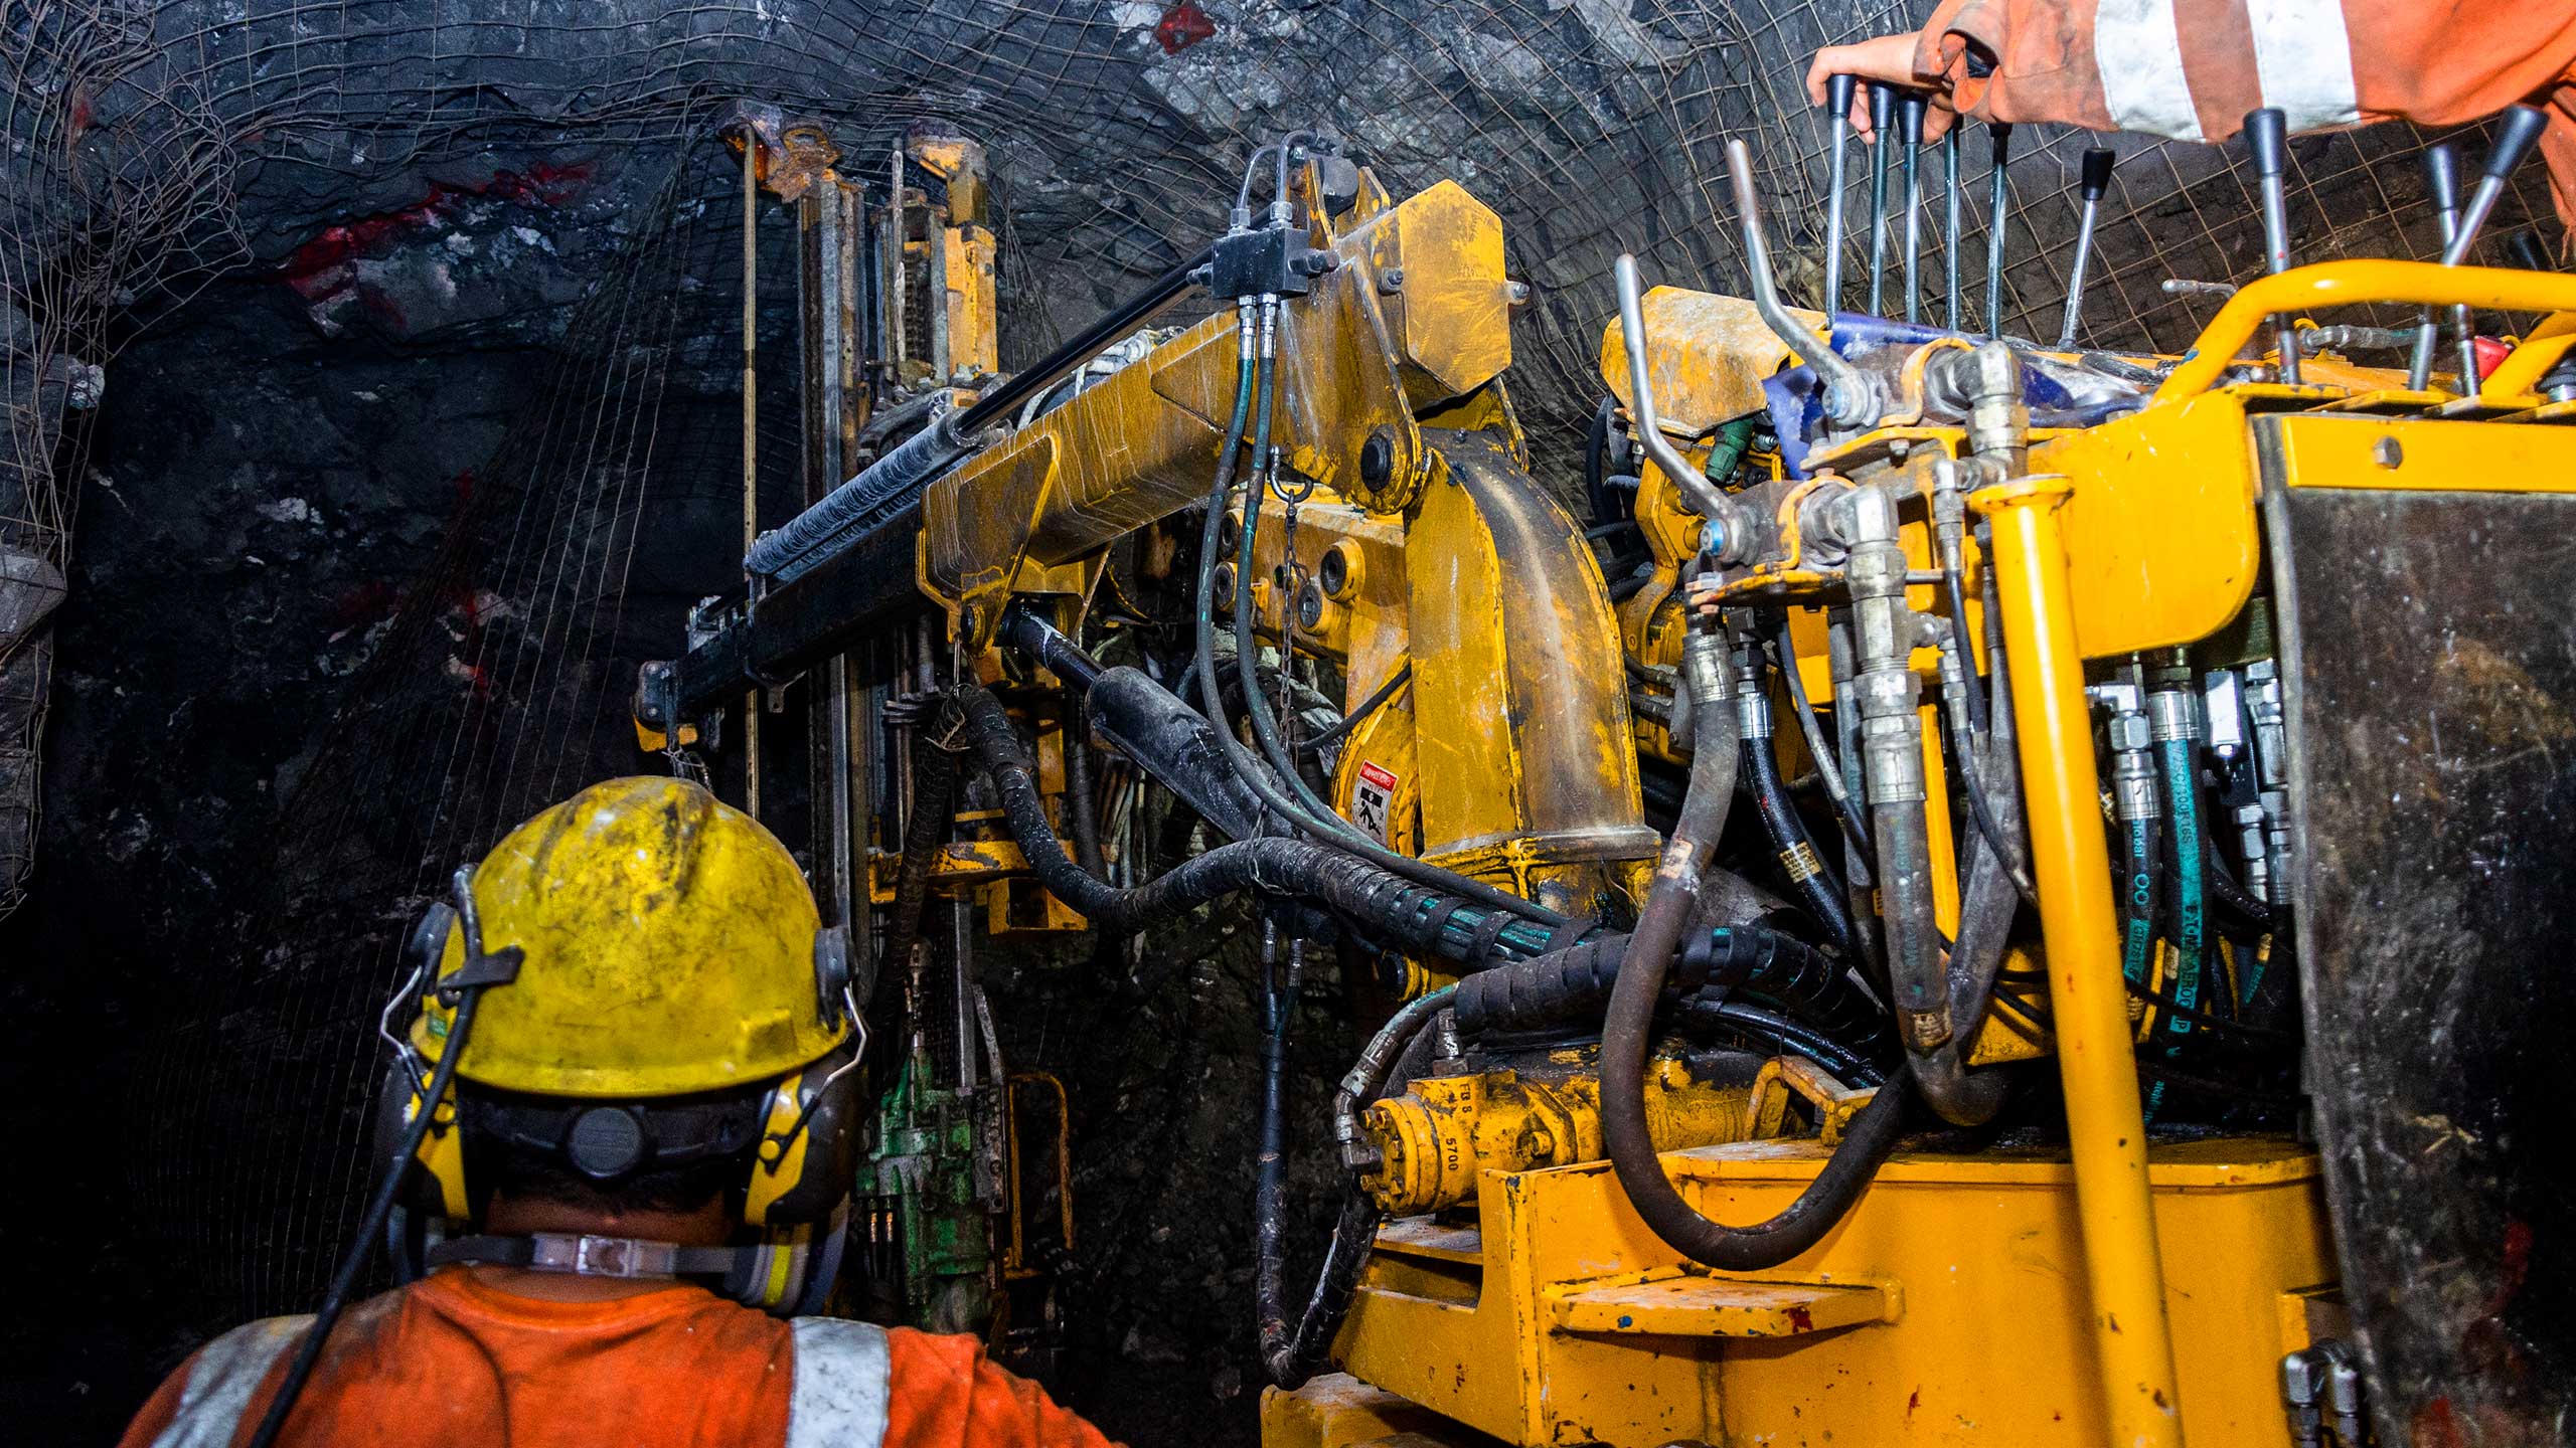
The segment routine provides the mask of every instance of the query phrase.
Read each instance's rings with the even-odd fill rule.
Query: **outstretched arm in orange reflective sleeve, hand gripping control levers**
[[[2550,111],[2540,152],[2576,222],[2571,0],[1942,0],[1919,31],[1816,52],[1819,106],[1829,75],[1932,90],[1927,139],[1976,116],[2223,142],[2264,106],[2334,131],[2527,100]],[[1865,103],[1852,124],[1870,131]]]

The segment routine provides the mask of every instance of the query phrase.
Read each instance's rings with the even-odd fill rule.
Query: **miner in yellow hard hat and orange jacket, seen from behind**
[[[974,1337],[817,1317],[858,1167],[845,938],[675,778],[520,824],[412,935],[361,1234],[399,1286],[198,1350],[129,1448],[1103,1448]],[[343,1309],[345,1306],[345,1309]]]

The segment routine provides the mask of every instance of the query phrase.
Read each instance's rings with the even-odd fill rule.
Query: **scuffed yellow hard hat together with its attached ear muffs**
[[[420,1275],[443,1244],[448,1260],[466,1247],[456,1237],[489,1190],[471,1162],[492,1141],[551,1154],[603,1188],[654,1167],[739,1157],[744,1234],[729,1250],[724,1293],[768,1311],[819,1304],[837,1273],[858,1170],[866,1023],[848,935],[819,928],[786,848],[698,786],[611,781],[515,830],[474,873],[474,894],[484,933],[526,948],[515,1000],[492,997],[518,1010],[513,1018],[487,1005],[459,1059],[459,1087],[435,1103],[428,1136],[399,1165],[404,1183],[386,1226],[397,1275]],[[636,910],[636,899],[657,904]],[[438,979],[440,964],[456,961],[453,930],[453,910],[422,915],[404,951],[412,982]],[[567,961],[587,969],[564,974]],[[672,1002],[675,984],[701,989]],[[659,1010],[665,1025],[644,1049],[603,1062],[567,1062],[556,1049],[549,1028],[564,1018],[595,1020],[600,1005],[636,1002]],[[422,1059],[435,1059],[440,1038],[438,997],[425,995],[420,1023],[407,1043],[397,1041],[386,1069],[379,1159],[422,1110]],[[775,1074],[781,1059],[791,1069]],[[768,1085],[737,1087],[734,1072],[757,1064],[770,1064]]]

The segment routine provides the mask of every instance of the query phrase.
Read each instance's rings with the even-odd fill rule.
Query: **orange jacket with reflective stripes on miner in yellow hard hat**
[[[307,1317],[198,1350],[124,1448],[247,1443]],[[801,1317],[670,1286],[616,1301],[502,1293],[440,1270],[353,1306],[281,1448],[1108,1448],[974,1337]]]

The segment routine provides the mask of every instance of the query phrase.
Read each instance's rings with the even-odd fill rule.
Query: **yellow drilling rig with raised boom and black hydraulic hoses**
[[[1728,162],[1752,296],[1620,260],[1589,523],[1499,219],[1285,137],[762,533],[639,729],[842,701],[881,1002],[938,899],[1262,902],[1270,1448],[2545,1440],[2576,278],[2285,268],[2184,356],[1829,317]],[[2481,376],[2468,309],[2545,319]],[[1321,940],[1396,1000],[1296,1144]],[[1291,1149],[1350,1183],[1306,1291]]]

